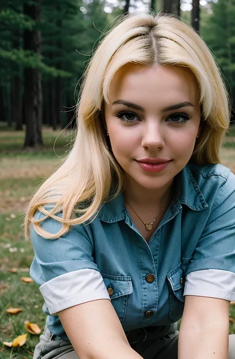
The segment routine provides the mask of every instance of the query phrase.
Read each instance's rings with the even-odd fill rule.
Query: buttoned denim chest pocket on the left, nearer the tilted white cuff
[[[133,291],[131,277],[105,273],[101,273],[101,275],[110,295],[112,305],[122,324],[125,318],[127,298]]]

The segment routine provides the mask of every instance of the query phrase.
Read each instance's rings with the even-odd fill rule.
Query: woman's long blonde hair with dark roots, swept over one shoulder
[[[230,106],[228,92],[207,45],[192,27],[175,16],[128,15],[99,44],[85,71],[75,143],[59,169],[31,199],[25,217],[26,236],[32,222],[39,235],[58,238],[71,225],[94,219],[102,204],[123,190],[122,169],[109,149],[101,117],[104,100],[109,102],[110,82],[127,63],[178,65],[192,71],[200,90],[202,126],[191,161],[201,165],[220,162]],[[35,218],[37,210],[45,217]],[[59,212],[62,216],[58,217]],[[40,222],[48,217],[62,224],[58,233],[50,234],[40,227]]]

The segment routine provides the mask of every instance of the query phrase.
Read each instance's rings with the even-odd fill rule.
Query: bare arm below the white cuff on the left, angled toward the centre
[[[79,359],[141,359],[129,345],[107,299],[79,304],[58,313]]]

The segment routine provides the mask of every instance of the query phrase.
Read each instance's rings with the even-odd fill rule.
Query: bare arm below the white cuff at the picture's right
[[[179,359],[228,359],[229,304],[224,299],[185,296]]]

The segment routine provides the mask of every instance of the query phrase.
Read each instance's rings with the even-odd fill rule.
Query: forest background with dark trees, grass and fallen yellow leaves
[[[29,276],[27,203],[72,144],[83,71],[104,29],[123,13],[147,9],[181,16],[210,47],[231,97],[222,163],[235,173],[235,0],[1,0],[0,359],[32,358],[45,324]]]

